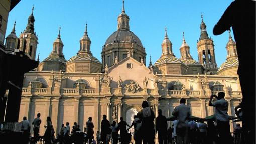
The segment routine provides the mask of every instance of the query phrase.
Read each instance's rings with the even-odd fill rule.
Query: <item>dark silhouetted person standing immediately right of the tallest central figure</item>
[[[167,144],[167,120],[166,117],[162,115],[161,109],[158,109],[157,112],[156,131],[158,132],[158,142],[159,144]]]

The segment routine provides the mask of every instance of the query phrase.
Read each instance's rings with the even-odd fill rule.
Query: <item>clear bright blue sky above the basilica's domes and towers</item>
[[[214,41],[216,62],[219,67],[226,59],[225,46],[228,42],[228,32],[214,36],[212,29],[231,2],[231,0],[126,0],[125,12],[130,17],[130,30],[140,38],[146,48],[147,65],[150,55],[153,63],[161,56],[165,27],[169,40],[173,43],[173,53],[176,57],[180,58],[179,48],[184,32],[190,46],[190,54],[198,61],[196,43],[200,37],[202,13],[207,32]],[[92,41],[91,51],[93,56],[101,61],[102,46],[117,30],[117,17],[122,10],[122,0],[22,0],[9,14],[6,36],[12,31],[16,21],[16,34],[19,37],[26,28],[33,4],[35,32],[39,39],[37,54],[40,52],[40,61],[52,51],[59,25],[61,25],[61,39],[64,43],[63,53],[66,60],[75,56],[80,47],[79,40],[84,34],[86,22],[88,35]]]

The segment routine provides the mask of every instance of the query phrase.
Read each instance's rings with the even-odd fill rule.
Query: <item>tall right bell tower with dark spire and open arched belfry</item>
[[[201,18],[201,35],[199,41],[197,42],[198,61],[201,65],[203,65],[204,73],[208,72],[211,74],[216,74],[218,67],[215,61],[213,40],[208,37],[206,25],[203,21],[203,15],[201,15]]]

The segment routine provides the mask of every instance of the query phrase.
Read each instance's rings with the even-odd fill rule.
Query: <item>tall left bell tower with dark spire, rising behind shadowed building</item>
[[[18,41],[18,47],[20,51],[23,51],[30,59],[36,59],[36,51],[38,38],[36,33],[34,32],[34,22],[35,17],[33,15],[34,6],[32,8],[32,13],[28,18],[28,24],[26,26],[26,30],[20,34],[20,38]]]

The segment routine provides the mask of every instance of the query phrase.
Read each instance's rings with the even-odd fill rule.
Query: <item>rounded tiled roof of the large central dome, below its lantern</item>
[[[117,30],[111,34],[107,38],[105,46],[113,43],[136,43],[143,47],[141,40],[133,32],[125,29]]]

